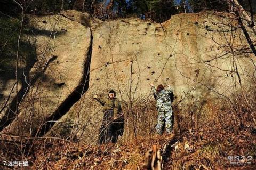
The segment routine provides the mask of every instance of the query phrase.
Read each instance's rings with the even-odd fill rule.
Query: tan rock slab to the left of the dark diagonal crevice
[[[28,37],[36,38],[37,52],[37,62],[29,72],[33,83],[20,104],[18,117],[4,132],[34,136],[44,134],[47,121],[60,118],[86,90],[84,72],[91,32],[61,15],[32,17],[29,22],[35,35]]]

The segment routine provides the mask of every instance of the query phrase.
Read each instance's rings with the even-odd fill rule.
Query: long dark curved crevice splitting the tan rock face
[[[65,115],[69,109],[82,97],[82,95],[89,88],[89,79],[90,79],[90,63],[92,58],[92,44],[93,44],[93,35],[92,30],[90,37],[90,46],[89,51],[87,52],[87,59],[85,62],[85,67],[83,71],[83,78],[75,90],[63,101],[58,109],[52,114],[51,117],[45,119],[45,124],[39,129],[38,136],[45,135],[50,128],[55,124],[54,121],[59,120],[63,115]],[[36,134],[33,134],[35,136]]]

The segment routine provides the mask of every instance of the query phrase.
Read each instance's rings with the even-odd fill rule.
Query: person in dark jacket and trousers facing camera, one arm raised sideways
[[[93,98],[103,106],[103,120],[99,129],[98,143],[116,143],[118,136],[123,135],[124,118],[120,101],[116,98],[114,90],[109,91],[108,98],[100,98],[94,95]]]

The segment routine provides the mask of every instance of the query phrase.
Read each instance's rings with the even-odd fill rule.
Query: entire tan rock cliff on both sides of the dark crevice
[[[236,68],[241,72],[243,84],[250,83],[247,77],[255,76],[255,56],[239,50],[247,47],[242,31],[236,28],[235,21],[216,13],[178,14],[162,24],[137,18],[92,21],[88,15],[75,11],[64,15],[58,18],[56,26],[58,33],[63,34],[56,35],[55,41],[52,39],[47,46],[53,43],[55,46],[47,58],[58,57],[26,96],[36,99],[34,103],[25,100],[18,118],[6,131],[16,133],[17,125],[22,124],[25,134],[31,133],[31,129],[39,133],[38,126],[47,132],[51,125],[42,124],[60,118],[47,135],[93,142],[102,118],[102,107],[92,99],[94,94],[107,95],[113,89],[117,98],[129,105],[153,97],[150,83],[171,84],[175,105],[185,108],[193,103],[202,111],[207,101],[218,103],[217,96],[231,96],[238,84]],[[54,26],[51,19],[55,17],[33,20],[40,27],[50,29]],[[90,25],[91,38],[87,28]],[[39,36],[38,45],[47,42],[47,38]],[[231,47],[236,50],[232,52]],[[39,51],[44,48],[37,48],[38,60],[42,58]],[[86,56],[90,56],[89,70],[84,69]],[[86,79],[89,79],[88,90],[83,95],[71,95]],[[67,103],[71,104],[65,107]]]

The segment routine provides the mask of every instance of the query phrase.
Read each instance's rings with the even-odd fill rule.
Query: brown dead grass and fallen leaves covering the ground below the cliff
[[[189,110],[181,112],[177,109],[176,114],[182,120],[179,121],[180,133],[175,136],[149,133],[153,124],[148,118],[145,125],[150,123],[150,128],[144,127],[146,133],[137,131],[136,138],[127,135],[125,137],[131,138],[124,138],[117,144],[93,146],[78,145],[63,139],[36,139],[31,151],[23,152],[23,158],[29,160],[32,169],[141,169],[144,155],[152,145],[156,144],[163,150],[170,144],[169,152],[163,153],[166,156],[164,169],[253,169],[256,135],[249,112],[239,109],[242,112],[232,114],[229,109],[211,103],[207,103],[206,108],[209,118],[196,120],[196,126],[190,122]],[[139,115],[137,112],[135,114]],[[240,114],[243,115],[242,119]],[[178,128],[177,124],[178,120],[175,120],[175,128]],[[10,142],[3,139],[0,146],[4,153],[2,157],[9,160],[23,159],[17,150],[23,147],[25,151],[31,147],[31,143],[25,144],[26,140],[17,143],[20,141],[17,138],[6,139]],[[231,165],[228,156],[252,156],[252,165]]]

